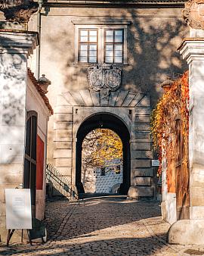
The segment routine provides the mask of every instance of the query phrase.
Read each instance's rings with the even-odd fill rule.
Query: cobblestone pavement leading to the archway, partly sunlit
[[[203,247],[165,242],[169,224],[162,221],[158,202],[116,197],[50,201],[46,223],[44,245],[0,244],[0,255],[204,255]]]

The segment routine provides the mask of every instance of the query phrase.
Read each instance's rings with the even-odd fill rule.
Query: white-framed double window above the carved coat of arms
[[[127,64],[127,26],[130,22],[75,25],[76,64]]]

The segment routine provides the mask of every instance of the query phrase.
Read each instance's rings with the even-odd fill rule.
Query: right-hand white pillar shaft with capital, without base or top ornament
[[[204,38],[186,39],[180,52],[189,64],[190,219],[204,219],[193,210],[204,206]]]

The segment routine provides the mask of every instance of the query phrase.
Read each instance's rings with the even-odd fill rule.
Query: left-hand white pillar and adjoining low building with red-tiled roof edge
[[[8,233],[5,189],[30,189],[32,217],[42,220],[45,215],[46,144],[53,110],[44,87],[27,66],[37,44],[35,32],[0,30],[1,241]],[[12,239],[20,242],[20,238],[17,230]]]

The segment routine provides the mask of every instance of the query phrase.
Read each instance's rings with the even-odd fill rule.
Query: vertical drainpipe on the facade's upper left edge
[[[39,45],[36,48],[36,79],[39,79],[40,73],[40,46],[41,46],[41,10],[43,0],[39,0],[39,9],[37,13],[37,32],[39,33]]]

